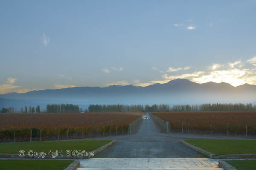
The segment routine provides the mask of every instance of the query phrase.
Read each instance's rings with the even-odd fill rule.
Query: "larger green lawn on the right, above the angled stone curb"
[[[256,153],[256,140],[186,139],[184,141],[218,155]]]

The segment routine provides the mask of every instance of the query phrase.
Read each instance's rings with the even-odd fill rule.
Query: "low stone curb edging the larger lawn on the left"
[[[97,148],[96,150],[93,150],[94,155],[96,153],[101,152],[102,150],[106,149],[107,147],[110,147],[112,144],[114,144],[116,141],[112,140],[108,144],[103,145],[102,147]],[[18,154],[8,154],[8,153],[1,153],[0,158],[34,158],[34,159],[89,159],[91,156],[56,156],[55,158],[52,158],[51,156],[45,156],[44,158],[38,156],[19,156]]]

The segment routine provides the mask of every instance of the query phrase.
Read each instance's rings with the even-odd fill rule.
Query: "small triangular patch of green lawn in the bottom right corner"
[[[255,170],[256,160],[226,161],[238,170]]]

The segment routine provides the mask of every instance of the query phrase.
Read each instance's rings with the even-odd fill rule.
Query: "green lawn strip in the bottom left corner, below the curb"
[[[72,160],[0,160],[0,170],[64,170]]]

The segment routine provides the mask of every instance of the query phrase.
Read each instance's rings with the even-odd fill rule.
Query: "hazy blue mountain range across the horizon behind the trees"
[[[254,103],[256,85],[239,85],[207,82],[196,83],[188,79],[175,79],[146,87],[134,85],[110,85],[101,87],[74,87],[54,90],[30,91],[23,94],[0,95],[0,108],[14,106],[19,109],[26,105],[49,103],[72,103],[80,107],[90,104],[202,104],[202,103]]]

